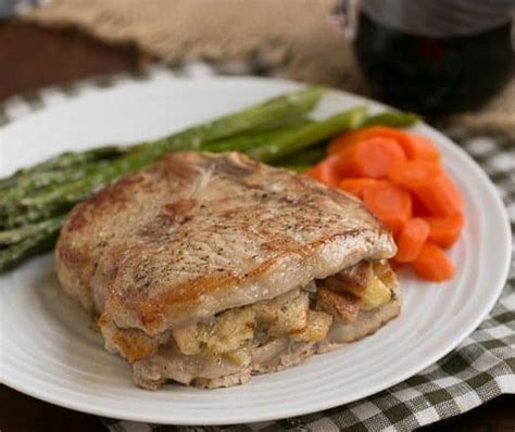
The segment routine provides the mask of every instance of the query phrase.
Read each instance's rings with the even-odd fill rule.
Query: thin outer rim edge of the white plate
[[[150,78],[150,79],[145,80],[145,81],[139,81],[138,84],[145,86],[145,84],[149,84],[152,80],[153,80],[153,78]],[[229,81],[230,82],[230,81],[234,81],[234,80],[250,81],[249,82],[250,85],[252,84],[252,81],[254,81],[254,82],[255,81],[275,82],[275,84],[278,84],[278,85],[289,85],[289,86],[291,86],[291,85],[304,86],[305,85],[304,82],[299,82],[299,81],[289,80],[289,79],[265,78],[265,77],[253,77],[253,76],[236,76],[236,77],[210,76],[210,77],[193,77],[193,78],[190,78],[190,77],[175,77],[175,76],[173,77],[174,84],[180,84],[181,81],[183,82],[185,82],[185,81],[200,82],[200,84],[205,84],[205,82],[209,84],[210,81],[211,82],[213,82],[213,81]],[[130,82],[133,84],[133,81],[130,81]],[[113,90],[113,88],[116,88],[116,84],[113,87],[105,88],[105,89],[103,89],[103,88],[92,89],[92,90],[88,91],[87,94],[91,94],[91,93],[100,93],[101,94],[103,92],[108,92],[110,90]],[[364,102],[366,102],[366,103],[368,103],[373,106],[392,109],[391,106],[386,105],[381,102],[378,102],[378,101],[375,101],[373,99],[362,97],[362,96],[359,96],[359,94],[354,94],[352,92],[348,92],[348,91],[340,90],[340,89],[335,89],[335,88],[329,88],[329,90],[331,92],[337,92],[340,96],[350,94],[352,97],[359,98],[359,99],[363,100]],[[68,104],[68,103],[73,104],[74,101],[76,101],[77,99],[80,99],[83,96],[84,94],[78,94],[77,97],[75,97],[71,100],[66,100],[66,101],[60,103],[59,105],[49,106],[47,109],[39,110],[35,113],[27,114],[27,115],[23,116],[20,119],[14,119],[11,123],[0,127],[0,134],[3,132],[5,129],[9,129],[10,126],[18,124],[20,122],[24,122],[25,119],[30,118],[33,115],[37,115],[37,114],[39,114],[43,111],[49,111],[49,110],[52,110],[52,109],[55,109],[55,107],[63,106],[64,104]],[[500,217],[500,220],[499,220],[500,226],[503,230],[503,233],[506,234],[506,236],[504,236],[505,242],[503,244],[503,247],[507,251],[507,254],[505,255],[505,259],[504,259],[504,263],[503,263],[503,266],[502,266],[502,271],[498,272],[498,278],[495,280],[495,283],[492,283],[492,287],[495,288],[495,292],[489,298],[488,304],[485,305],[485,307],[482,308],[481,314],[477,314],[476,318],[474,320],[472,320],[468,326],[466,326],[466,331],[461,331],[457,336],[450,338],[449,342],[447,344],[444,344],[443,348],[440,348],[440,350],[436,351],[434,353],[434,355],[428,356],[424,361],[417,363],[416,365],[412,366],[411,368],[407,368],[406,370],[404,370],[402,373],[397,374],[392,379],[384,380],[378,385],[366,386],[362,391],[356,392],[357,394],[354,393],[354,395],[351,399],[347,399],[344,402],[332,401],[332,402],[329,402],[329,403],[326,403],[326,404],[324,404],[324,403],[312,404],[312,407],[310,407],[309,410],[296,409],[296,407],[293,406],[293,407],[289,407],[289,409],[286,409],[285,410],[286,414],[281,415],[280,417],[277,416],[277,415],[267,416],[266,414],[262,415],[262,416],[255,416],[253,414],[250,414],[250,415],[247,414],[247,415],[241,415],[241,416],[233,416],[229,422],[224,421],[223,419],[210,419],[208,422],[203,422],[202,424],[205,424],[205,425],[208,425],[208,424],[209,425],[221,425],[221,424],[236,424],[236,423],[249,423],[249,422],[256,422],[256,421],[276,420],[276,419],[279,419],[279,418],[294,417],[294,416],[306,415],[306,414],[311,414],[311,412],[316,412],[316,411],[330,409],[330,408],[334,408],[336,406],[340,406],[342,404],[349,404],[349,403],[362,399],[364,397],[370,396],[370,395],[373,395],[377,392],[380,392],[382,390],[387,390],[387,389],[389,389],[389,387],[391,387],[391,386],[393,386],[393,385],[395,385],[395,384],[398,384],[402,381],[405,381],[410,377],[413,377],[414,374],[418,373],[419,371],[426,369],[430,365],[435,364],[436,361],[438,361],[439,359],[444,357],[452,350],[454,350],[461,342],[463,342],[466,338],[468,338],[470,335],[470,333],[481,323],[481,321],[485,319],[485,317],[491,312],[491,309],[493,308],[494,304],[499,300],[499,296],[501,295],[501,292],[504,288],[504,283],[505,283],[505,280],[507,278],[507,275],[508,275],[511,259],[512,259],[512,253],[513,253],[513,250],[512,250],[512,246],[511,246],[511,238],[512,238],[511,225],[510,225],[510,219],[508,219],[508,216],[507,216],[507,213],[506,213],[506,208],[505,208],[498,191],[495,190],[494,183],[490,180],[490,178],[483,171],[483,169],[476,163],[476,161],[474,161],[474,158],[467,152],[465,152],[465,150],[463,150],[461,147],[459,147],[456,143],[454,143],[450,138],[444,136],[439,130],[432,128],[431,126],[429,126],[425,123],[422,123],[420,126],[422,126],[422,128],[429,130],[430,134],[438,136],[439,140],[448,141],[448,143],[451,144],[451,145],[449,145],[449,150],[451,152],[454,152],[454,153],[459,154],[459,157],[465,157],[467,160],[467,162],[469,164],[469,168],[475,171],[475,175],[480,179],[480,181],[483,183],[483,186],[487,188],[489,194],[493,199],[493,202],[494,202],[494,205],[495,205],[495,212],[494,213],[497,214],[497,216]],[[8,385],[8,386],[10,386],[10,387],[12,387],[16,391],[20,391],[20,392],[22,392],[24,394],[27,394],[29,396],[39,398],[41,401],[46,401],[46,402],[52,403],[52,404],[61,406],[61,407],[75,409],[75,410],[91,414],[91,415],[97,415],[97,416],[102,416],[102,417],[111,417],[111,418],[113,418],[113,416],[114,416],[114,418],[121,419],[121,420],[123,419],[123,420],[140,421],[140,422],[149,422],[149,423],[161,423],[161,424],[172,424],[173,423],[173,424],[181,424],[181,425],[194,424],[194,423],[191,423],[191,421],[181,421],[180,419],[169,419],[169,418],[168,419],[164,419],[164,418],[158,418],[156,419],[155,417],[148,417],[146,415],[139,415],[139,414],[127,412],[127,411],[125,411],[125,414],[120,414],[120,412],[114,414],[113,409],[103,408],[103,407],[99,407],[99,406],[95,407],[95,406],[91,406],[91,404],[88,403],[88,402],[76,402],[74,399],[66,401],[65,397],[63,397],[63,396],[54,397],[52,394],[49,394],[45,390],[38,391],[37,387],[32,389],[30,385],[28,385],[28,384],[24,385],[23,382],[20,383],[20,382],[16,382],[16,380],[10,380],[8,376],[0,377],[0,382],[2,382],[3,384],[5,384],[5,385]],[[235,410],[235,411],[238,412],[238,410]],[[164,416],[164,417],[166,417],[166,416]]]

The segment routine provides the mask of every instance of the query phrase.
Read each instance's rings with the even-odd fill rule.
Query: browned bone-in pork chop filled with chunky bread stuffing
[[[63,289],[135,382],[246,382],[400,313],[391,234],[353,198],[238,154],[173,153],[77,205]]]

